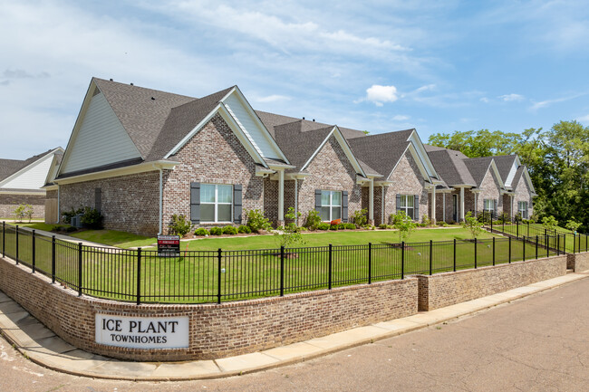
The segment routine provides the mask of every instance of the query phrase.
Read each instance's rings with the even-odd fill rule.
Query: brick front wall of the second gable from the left
[[[303,214],[302,221],[315,208],[315,189],[348,191],[348,217],[362,208],[362,187],[356,184],[356,171],[334,136],[327,140],[304,171],[310,175],[299,181],[298,186],[298,208]],[[294,192],[294,181],[288,188],[289,191],[291,189]],[[285,211],[294,206],[294,197],[288,197],[288,200],[292,204],[286,204],[285,196]]]

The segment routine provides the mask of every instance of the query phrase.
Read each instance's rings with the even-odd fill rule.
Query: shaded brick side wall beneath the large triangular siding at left
[[[96,188],[101,188],[101,214],[105,228],[135,234],[158,234],[158,171],[60,186],[60,215],[72,208],[95,208]]]

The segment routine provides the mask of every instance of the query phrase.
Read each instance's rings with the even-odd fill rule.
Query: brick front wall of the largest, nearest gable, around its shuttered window
[[[256,177],[256,162],[219,114],[170,159],[180,164],[164,178],[164,226],[174,214],[190,216],[191,182],[239,184],[243,186],[244,212],[264,208],[263,180]]]

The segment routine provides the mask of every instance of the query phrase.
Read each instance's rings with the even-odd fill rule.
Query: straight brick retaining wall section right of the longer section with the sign
[[[546,281],[566,273],[566,256],[555,256],[476,270],[417,275],[420,311],[475,300],[497,292]]]

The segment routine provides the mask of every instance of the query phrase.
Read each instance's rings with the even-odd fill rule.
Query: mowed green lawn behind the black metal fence
[[[473,268],[495,263],[509,263],[536,257],[535,244],[490,234],[477,243],[469,241],[463,229],[419,230],[410,239],[443,238],[430,248],[429,241],[406,244],[401,248],[395,243],[398,236],[391,231],[339,232],[305,234],[313,247],[287,249],[284,260],[274,250],[239,250],[239,246],[251,248],[256,239],[266,248],[272,244],[272,236],[206,239],[189,244],[210,243],[208,250],[183,252],[180,257],[159,258],[157,252],[144,250],[140,267],[141,301],[161,302],[208,302],[217,301],[219,287],[222,301],[244,300],[263,296],[279,295],[281,272],[284,275],[285,293],[304,292],[349,284],[400,279],[415,273],[436,273]],[[456,239],[456,247],[454,245]],[[219,260],[217,248],[221,243],[227,249]],[[369,257],[367,243],[372,242]],[[333,244],[330,253],[327,244]],[[355,244],[349,244],[355,243]],[[494,244],[495,243],[495,244]],[[511,244],[510,244],[511,243]],[[32,264],[33,244],[30,234],[19,234],[19,259]],[[82,247],[83,292],[103,298],[134,301],[138,292],[138,260],[132,250],[97,250]],[[431,252],[430,252],[431,250]],[[6,253],[14,258],[14,230],[6,233]],[[56,246],[56,276],[58,282],[76,289],[78,286],[77,244],[58,241]],[[475,256],[476,254],[476,256]],[[553,254],[553,253],[549,253]],[[546,256],[546,249],[539,248],[538,256]],[[369,270],[370,258],[370,270]],[[282,262],[282,263],[281,263]],[[35,264],[38,269],[51,273],[51,243],[42,237],[35,241]],[[220,277],[220,286],[218,285]]]

